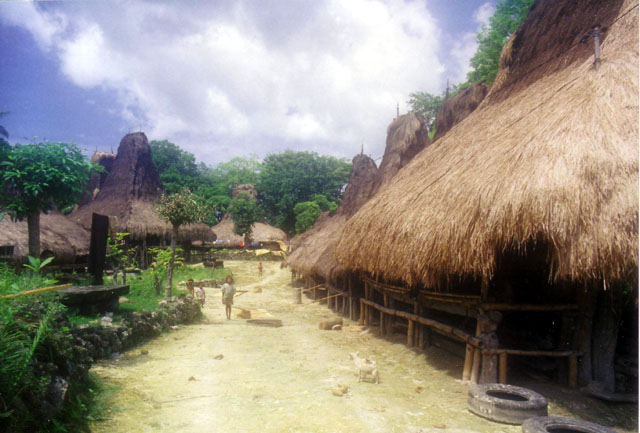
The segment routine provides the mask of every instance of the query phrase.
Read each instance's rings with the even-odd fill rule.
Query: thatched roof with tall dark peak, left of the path
[[[156,205],[162,195],[162,184],[151,159],[151,147],[142,132],[127,134],[118,147],[111,171],[100,192],[90,203],[74,210],[69,218],[91,229],[91,215],[115,217],[113,230],[129,233],[132,239],[149,236],[169,237],[171,227],[160,219]],[[179,241],[212,240],[204,224],[181,227]]]

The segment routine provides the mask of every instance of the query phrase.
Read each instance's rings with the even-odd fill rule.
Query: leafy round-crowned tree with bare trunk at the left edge
[[[30,256],[40,257],[40,212],[76,203],[89,176],[99,170],[73,144],[16,145],[9,150],[0,162],[0,205],[13,219],[27,219]]]

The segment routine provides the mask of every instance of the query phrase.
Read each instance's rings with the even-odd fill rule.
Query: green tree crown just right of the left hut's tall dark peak
[[[194,190],[200,185],[202,170],[192,153],[167,140],[151,140],[149,146],[151,159],[167,194],[180,192],[183,188]]]

